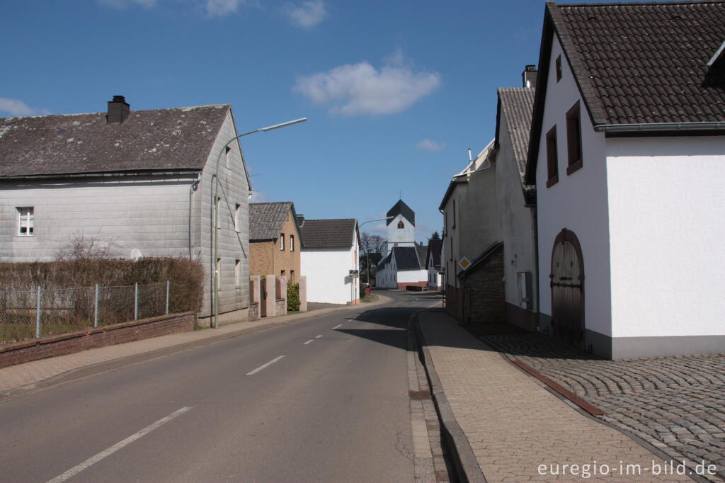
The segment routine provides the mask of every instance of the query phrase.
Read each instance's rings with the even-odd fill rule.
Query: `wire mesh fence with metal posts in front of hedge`
[[[1,290],[0,344],[169,313],[170,284]]]

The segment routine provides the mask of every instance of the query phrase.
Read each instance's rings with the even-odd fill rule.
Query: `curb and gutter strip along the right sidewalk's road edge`
[[[419,312],[422,312],[420,310]],[[441,421],[441,432],[447,444],[447,448],[450,450],[450,458],[452,459],[452,466],[455,470],[457,479],[462,483],[486,483],[486,477],[481,471],[478,461],[476,461],[476,455],[473,454],[471,449],[471,443],[468,442],[468,438],[465,437],[465,433],[458,426],[453,411],[448,404],[445,393],[443,392],[443,386],[441,380],[436,373],[436,368],[433,365],[431,359],[431,352],[428,350],[428,343],[426,337],[423,336],[423,331],[418,323],[418,312],[411,315],[413,318],[413,326],[415,326],[415,334],[418,337],[419,346],[419,357],[423,363],[423,367],[426,368],[426,374],[428,375],[428,384],[431,387],[431,393],[433,395],[433,401],[438,411],[438,417]]]

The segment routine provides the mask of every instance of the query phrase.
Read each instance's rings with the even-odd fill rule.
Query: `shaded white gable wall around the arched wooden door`
[[[561,55],[563,77],[557,83],[555,59]],[[585,323],[589,331],[611,335],[609,230],[605,138],[592,128],[566,56],[554,38],[549,59],[547,98],[537,160],[539,228],[539,307],[542,326],[551,316],[551,256],[553,242],[563,228],[576,234],[584,257]],[[566,174],[566,112],[579,100],[583,168]],[[546,134],[557,126],[559,181],[547,188]],[[594,334],[592,337],[597,337]],[[586,344],[592,343],[587,340]],[[595,350],[596,347],[595,347]]]

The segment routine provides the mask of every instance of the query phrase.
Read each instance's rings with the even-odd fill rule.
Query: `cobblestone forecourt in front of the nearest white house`
[[[600,360],[543,334],[481,336],[600,408],[611,424],[725,480],[725,354]]]

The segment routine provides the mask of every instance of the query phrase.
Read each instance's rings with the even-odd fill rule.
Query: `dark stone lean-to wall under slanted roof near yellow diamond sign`
[[[503,245],[459,279],[460,287],[446,287],[446,311],[463,323],[506,321],[503,281]]]

